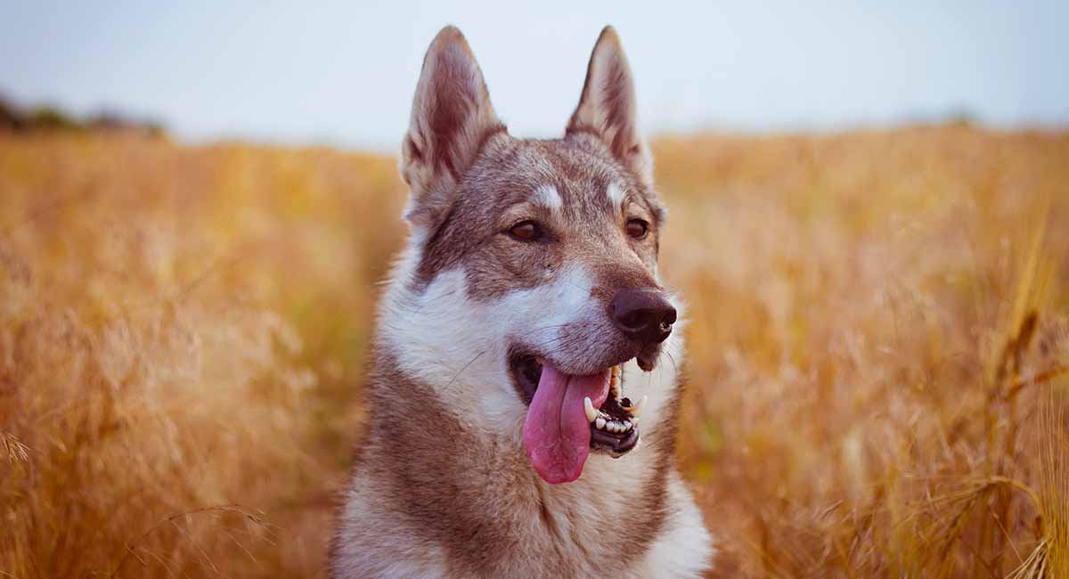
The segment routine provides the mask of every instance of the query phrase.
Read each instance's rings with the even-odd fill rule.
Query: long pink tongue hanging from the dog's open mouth
[[[590,376],[569,376],[543,364],[524,422],[524,447],[547,483],[570,483],[583,473],[590,453],[590,423],[583,404],[587,396],[594,408],[605,402],[607,369]]]

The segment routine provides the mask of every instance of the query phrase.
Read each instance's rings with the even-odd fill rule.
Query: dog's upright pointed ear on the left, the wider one
[[[423,57],[401,147],[401,175],[412,187],[405,218],[417,228],[436,226],[482,143],[502,130],[467,41],[455,27],[441,29]]]

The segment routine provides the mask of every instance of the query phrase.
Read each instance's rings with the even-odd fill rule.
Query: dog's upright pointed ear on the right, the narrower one
[[[624,167],[652,185],[653,159],[638,131],[636,109],[631,65],[616,30],[607,26],[590,54],[579,106],[572,113],[564,135],[597,135]]]

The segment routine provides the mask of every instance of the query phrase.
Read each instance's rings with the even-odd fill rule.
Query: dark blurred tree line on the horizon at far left
[[[165,135],[164,126],[156,122],[128,119],[104,112],[79,119],[52,106],[20,108],[0,97],[0,131],[93,131],[115,130],[142,132],[153,137]]]

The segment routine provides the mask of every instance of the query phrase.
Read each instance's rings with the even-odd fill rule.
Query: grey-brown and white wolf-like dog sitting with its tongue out
[[[673,458],[665,209],[616,31],[564,136],[532,140],[509,135],[463,34],[443,29],[400,168],[410,235],[329,576],[700,576],[714,548]]]

